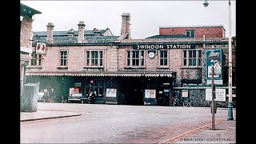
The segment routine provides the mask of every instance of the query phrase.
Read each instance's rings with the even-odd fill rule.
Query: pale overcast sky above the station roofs
[[[121,33],[122,13],[130,13],[131,38],[143,39],[159,34],[159,26],[223,25],[229,34],[228,0],[198,1],[21,1],[39,10],[34,15],[33,31],[46,31],[48,22],[54,31],[78,30],[78,22],[85,22],[85,30],[110,28],[112,34]],[[236,3],[231,1],[231,35],[236,35]]]

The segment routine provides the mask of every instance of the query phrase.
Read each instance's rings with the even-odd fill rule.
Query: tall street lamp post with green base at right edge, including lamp
[[[205,0],[203,6],[207,7],[209,2]],[[232,95],[232,45],[231,45],[231,2],[229,0],[229,102],[228,102],[228,118],[227,120],[234,120],[233,118],[233,95]]]

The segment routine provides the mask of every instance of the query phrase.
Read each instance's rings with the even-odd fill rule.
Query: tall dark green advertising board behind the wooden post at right
[[[211,84],[211,67],[214,66],[214,84],[223,84],[223,50],[206,50],[206,80],[207,85]]]

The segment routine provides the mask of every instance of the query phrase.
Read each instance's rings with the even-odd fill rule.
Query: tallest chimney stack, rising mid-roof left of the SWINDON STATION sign
[[[127,34],[125,39],[130,39],[130,13],[122,13],[121,36]]]

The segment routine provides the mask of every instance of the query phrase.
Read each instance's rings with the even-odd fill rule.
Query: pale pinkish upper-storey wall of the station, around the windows
[[[194,39],[194,38],[192,38]],[[215,38],[216,39],[216,38]],[[222,39],[222,38],[221,38]],[[191,40],[191,38],[190,38]],[[202,38],[201,38],[202,40]],[[199,40],[199,41],[201,41]],[[147,40],[127,40],[126,42],[144,42]],[[152,39],[152,42],[157,41]],[[161,41],[161,40],[159,40]],[[162,40],[163,41],[163,40]],[[175,40],[176,41],[176,40]],[[184,41],[183,39],[180,41]],[[195,41],[195,40],[194,40]],[[206,41],[210,41],[210,39],[206,38]],[[216,39],[218,42],[218,39]],[[227,40],[223,40],[226,42]],[[186,42],[186,41],[185,41]],[[215,45],[206,45],[206,49],[218,48],[214,47]],[[85,50],[106,50],[103,53],[104,63],[106,64],[107,71],[129,71],[126,69],[126,50],[133,50],[132,46],[49,46],[48,53],[44,56],[42,61],[42,70],[31,69],[31,71],[82,71],[85,66]],[[169,67],[166,69],[159,69],[158,67],[158,58],[159,52],[157,50],[156,56],[154,58],[148,57],[148,50],[145,50],[145,67],[146,69],[132,69],[137,71],[172,71],[176,72],[176,82],[178,86],[181,86],[182,79],[205,79],[206,76],[206,68],[205,68],[205,50],[203,50],[202,45],[196,46],[196,49],[202,50],[202,68],[183,68],[182,67],[182,50],[180,49],[170,49],[169,50]],[[224,50],[224,54],[226,54],[226,59],[228,59],[228,45],[223,44],[222,49]],[[68,50],[68,70],[57,70],[58,61],[59,61],[59,51],[60,50]],[[233,54],[235,54],[235,49],[233,49]],[[233,55],[233,59],[235,60],[235,55]],[[228,63],[228,62],[226,62]],[[233,65],[235,66],[235,62],[233,61]],[[227,76],[224,76],[227,77]]]

